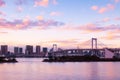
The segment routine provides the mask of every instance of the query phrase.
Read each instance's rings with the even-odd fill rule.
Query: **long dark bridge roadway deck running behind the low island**
[[[113,54],[120,55],[120,48],[102,48],[102,49],[66,49],[60,51],[50,52],[51,56],[83,56],[83,55],[96,55],[98,57],[105,56],[105,49]]]

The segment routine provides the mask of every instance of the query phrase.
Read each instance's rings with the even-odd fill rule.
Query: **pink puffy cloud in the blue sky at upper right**
[[[107,4],[104,7],[92,6],[91,9],[94,10],[94,11],[97,11],[100,14],[103,14],[105,12],[114,10],[115,9],[115,5],[113,5],[113,4]]]

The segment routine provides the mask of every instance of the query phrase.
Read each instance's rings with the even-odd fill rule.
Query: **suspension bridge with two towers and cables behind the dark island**
[[[83,48],[84,47],[84,48]],[[49,56],[84,56],[84,55],[96,55],[100,58],[120,58],[120,48],[108,48],[105,44],[100,42],[97,38],[92,38],[81,44],[77,49],[65,49],[57,48],[56,44],[53,44],[53,48],[50,50]]]

